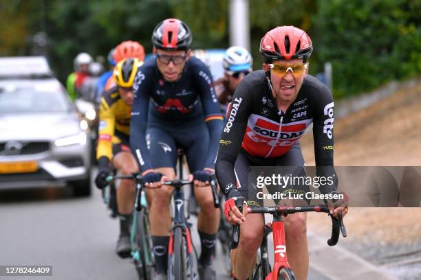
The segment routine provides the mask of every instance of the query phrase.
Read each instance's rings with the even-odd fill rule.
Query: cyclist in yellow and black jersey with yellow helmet
[[[98,175],[95,183],[99,189],[107,187],[106,178],[114,167],[122,175],[138,172],[138,163],[131,154],[129,145],[131,105],[133,104],[133,81],[138,68],[143,64],[138,58],[123,59],[114,67],[116,86],[107,91],[100,103],[98,152]],[[135,194],[132,180],[120,180],[116,186],[117,208],[120,216],[120,237],[116,253],[130,257],[131,211]]]

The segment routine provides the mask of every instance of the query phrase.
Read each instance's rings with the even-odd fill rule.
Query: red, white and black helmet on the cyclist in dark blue
[[[190,28],[179,19],[166,19],[156,25],[152,34],[153,47],[166,51],[190,49]]]

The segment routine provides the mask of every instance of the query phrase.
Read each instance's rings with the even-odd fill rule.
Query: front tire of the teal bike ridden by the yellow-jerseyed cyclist
[[[136,260],[134,263],[140,280],[152,280],[154,275],[151,236],[147,219],[147,215],[143,211],[138,212],[136,245],[140,250],[140,263]]]

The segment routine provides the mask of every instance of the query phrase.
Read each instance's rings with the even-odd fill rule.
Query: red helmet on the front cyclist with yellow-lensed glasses
[[[305,33],[294,26],[279,26],[266,33],[260,41],[260,54],[265,62],[282,59],[307,58],[312,54],[312,40]]]

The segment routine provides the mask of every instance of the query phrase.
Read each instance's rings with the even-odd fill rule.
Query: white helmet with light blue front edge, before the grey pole
[[[222,64],[226,71],[252,71],[253,59],[244,47],[230,47],[224,54]]]

